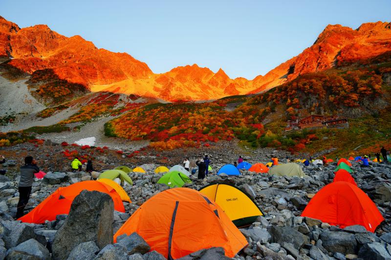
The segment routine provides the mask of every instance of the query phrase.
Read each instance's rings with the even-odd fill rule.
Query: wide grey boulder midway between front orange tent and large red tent
[[[272,243],[292,243],[297,250],[300,250],[304,243],[309,243],[307,236],[288,226],[269,226],[268,231],[271,235],[270,241]]]

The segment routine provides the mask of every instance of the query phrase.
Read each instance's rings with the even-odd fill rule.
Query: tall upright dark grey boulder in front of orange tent
[[[53,259],[65,260],[80,243],[93,241],[102,249],[113,241],[114,203],[106,193],[82,191],[52,243]]]

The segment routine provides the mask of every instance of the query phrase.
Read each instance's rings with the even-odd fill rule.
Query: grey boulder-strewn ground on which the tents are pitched
[[[132,203],[124,202],[126,213],[114,212],[112,217],[102,214],[112,211],[112,203],[110,204],[107,196],[86,192],[78,197],[69,216],[61,215],[56,220],[46,221],[44,224],[24,224],[14,220],[16,204],[19,200],[18,165],[22,163],[22,157],[33,154],[48,172],[43,180],[34,182],[26,211],[33,209],[58,187],[91,180],[90,174],[67,172],[65,165],[69,160],[61,156],[61,151],[67,147],[51,142],[46,142],[39,147],[30,143],[20,144],[2,150],[1,153],[8,159],[6,163],[8,172],[7,176],[0,176],[0,259],[4,257],[67,259],[67,256],[68,259],[164,259],[157,252],[147,253],[150,250],[149,245],[137,234],[122,237],[114,244],[110,240],[111,235],[143,202],[168,189],[166,185],[157,183],[161,177],[161,174],[153,172],[157,166],[173,166],[185,155],[191,154],[191,158],[196,159],[204,152],[210,154],[215,170],[225,163],[236,160],[238,154],[243,155],[251,163],[265,162],[273,153],[280,158],[285,156],[282,152],[268,149],[251,153],[229,142],[221,145],[221,147],[200,150],[182,149],[165,152],[159,156],[156,151],[146,149],[131,158],[126,154],[121,155],[109,150],[103,154],[93,154],[96,158],[94,163],[97,170],[128,165],[141,166],[147,171],[146,174],[129,174],[133,185],[124,188],[130,195]],[[235,148],[229,149],[230,145]],[[80,150],[80,147],[75,149]],[[92,149],[88,151],[89,154],[91,152]],[[47,153],[50,156],[46,156]],[[169,160],[166,156],[170,154],[172,157]],[[56,164],[52,155],[57,156]],[[62,166],[64,168],[61,168]],[[353,162],[352,166],[354,170],[352,176],[358,186],[376,203],[385,218],[375,233],[366,231],[362,226],[340,229],[320,220],[300,217],[310,198],[333,180],[336,163],[322,167],[303,165],[301,167],[306,174],[302,179],[242,171],[242,175],[238,177],[217,176],[212,173],[204,180],[196,180],[196,176],[192,176],[193,183],[185,186],[199,189],[212,182],[228,181],[245,190],[261,207],[265,215],[259,217],[251,226],[240,229],[249,245],[235,257],[236,259],[391,259],[391,164],[373,163],[369,168],[360,168],[357,162]],[[58,170],[59,168],[62,170]],[[81,214],[78,208],[83,208],[86,204],[93,210],[87,215]],[[96,216],[104,218],[105,221],[96,221],[104,223],[103,226],[87,221],[88,218],[96,218]],[[93,230],[93,232],[80,232],[80,230]],[[96,234],[99,230],[109,230],[109,234],[97,238]],[[212,248],[194,253],[186,259],[225,259],[225,257],[221,248]]]

